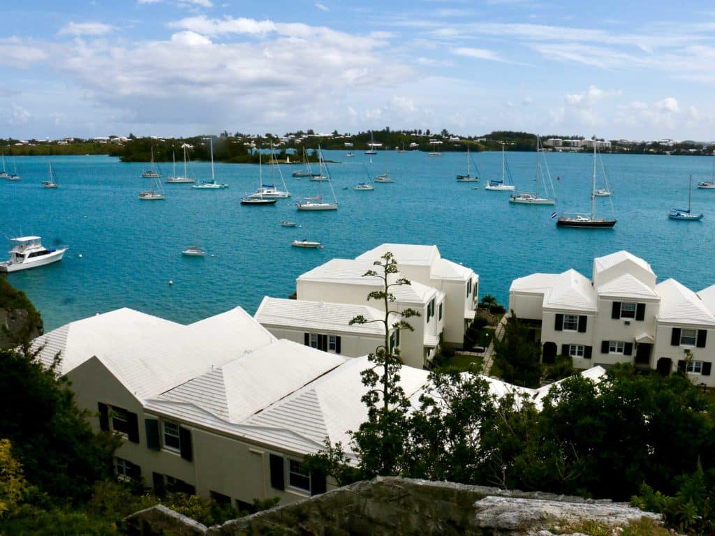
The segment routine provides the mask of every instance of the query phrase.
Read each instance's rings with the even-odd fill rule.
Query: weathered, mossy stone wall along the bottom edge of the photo
[[[127,518],[127,528],[142,536],[550,536],[616,535],[629,522],[648,523],[644,534],[666,533],[659,515],[621,503],[378,477],[215,527],[153,507]]]

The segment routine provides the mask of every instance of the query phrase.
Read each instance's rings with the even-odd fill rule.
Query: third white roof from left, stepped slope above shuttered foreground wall
[[[238,423],[344,361],[339,355],[280,339],[214,367],[157,399],[194,403]]]

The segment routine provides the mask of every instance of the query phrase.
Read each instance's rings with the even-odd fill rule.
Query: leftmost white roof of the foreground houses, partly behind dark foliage
[[[59,353],[58,372],[64,375],[92,356],[104,356],[147,337],[183,328],[182,324],[124,307],[64,324],[34,339],[31,348],[39,349],[39,359],[48,367]]]

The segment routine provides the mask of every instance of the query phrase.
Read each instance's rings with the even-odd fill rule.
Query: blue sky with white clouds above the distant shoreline
[[[2,0],[0,138],[715,139],[715,4]]]

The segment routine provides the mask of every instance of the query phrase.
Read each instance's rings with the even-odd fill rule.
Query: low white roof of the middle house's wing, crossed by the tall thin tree
[[[272,298],[266,296],[258,306],[254,318],[264,326],[295,327],[297,329],[328,329],[331,332],[350,332],[383,336],[384,324],[354,324],[350,320],[362,314],[368,320],[384,320],[385,313],[367,305],[327,302],[308,302],[303,299]],[[397,320],[391,315],[390,324]]]

